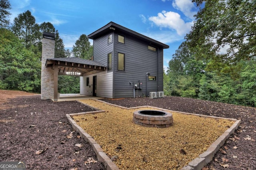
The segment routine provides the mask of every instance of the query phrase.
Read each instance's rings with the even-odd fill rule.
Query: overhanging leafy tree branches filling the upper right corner
[[[202,0],[195,0],[198,5]],[[215,53],[222,63],[256,56],[256,1],[211,0],[196,15],[186,36],[190,50],[208,59]]]

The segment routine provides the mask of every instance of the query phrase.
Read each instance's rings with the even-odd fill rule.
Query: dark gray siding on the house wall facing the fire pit
[[[133,97],[133,82],[138,81],[142,82],[143,88],[135,90],[135,95],[138,92],[138,96],[146,96],[147,72],[157,78],[156,81],[148,81],[148,94],[163,91],[163,49],[158,49],[158,52],[148,50],[148,42],[122,33],[125,44],[118,43],[117,35],[114,33],[114,98]],[[125,71],[117,70],[118,53],[125,54]]]

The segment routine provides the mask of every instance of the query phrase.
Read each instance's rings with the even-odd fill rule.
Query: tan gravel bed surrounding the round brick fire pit
[[[181,169],[226,131],[234,121],[170,112],[173,125],[158,129],[132,123],[133,112],[95,100],[80,100],[105,113],[73,116],[120,169]]]

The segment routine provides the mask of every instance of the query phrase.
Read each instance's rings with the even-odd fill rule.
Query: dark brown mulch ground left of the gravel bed
[[[24,161],[33,170],[104,170],[99,162],[85,165],[88,158],[97,160],[96,154],[66,118],[90,107],[41,100],[40,95],[12,98],[6,105],[10,108],[0,110],[0,161]]]

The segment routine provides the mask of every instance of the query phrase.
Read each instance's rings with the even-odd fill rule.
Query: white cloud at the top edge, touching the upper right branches
[[[194,15],[197,13],[197,9],[194,3],[191,0],[174,0],[172,6],[180,10],[186,17],[191,20],[194,19]]]

